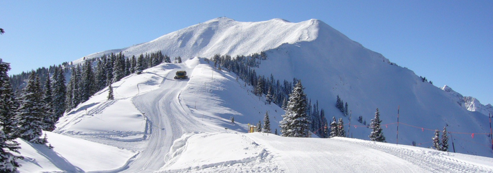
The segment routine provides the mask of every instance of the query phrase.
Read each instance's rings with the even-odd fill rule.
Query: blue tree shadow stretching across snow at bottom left
[[[54,150],[48,148],[48,146],[38,144],[38,143],[30,143],[26,141],[32,148],[34,148],[39,154],[48,159],[56,168],[63,170],[63,172],[84,172],[81,168],[72,165],[67,159],[63,158],[60,154],[55,152]]]

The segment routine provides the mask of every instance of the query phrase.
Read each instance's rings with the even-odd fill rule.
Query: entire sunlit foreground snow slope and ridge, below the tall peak
[[[186,70],[188,80],[174,80]],[[357,139],[246,134],[284,113],[204,58],[114,83],[67,113],[48,140],[22,143],[21,172],[492,172],[491,158]],[[232,124],[230,117],[235,117]],[[278,129],[279,130],[279,129]],[[67,137],[67,136],[70,137]],[[75,139],[76,137],[78,139]],[[84,140],[85,139],[85,140]],[[30,147],[32,146],[32,147]]]

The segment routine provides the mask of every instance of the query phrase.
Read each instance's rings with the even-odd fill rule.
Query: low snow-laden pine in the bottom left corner
[[[19,149],[21,149],[19,143],[7,137],[3,130],[0,130],[0,172],[17,172],[17,168],[21,166],[17,163],[17,159],[24,159],[24,157],[15,156],[12,152],[21,154]]]

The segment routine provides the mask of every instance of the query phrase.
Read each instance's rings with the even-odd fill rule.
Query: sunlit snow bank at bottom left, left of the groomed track
[[[117,172],[125,169],[136,153],[101,143],[46,132],[54,146],[21,143],[20,172]]]

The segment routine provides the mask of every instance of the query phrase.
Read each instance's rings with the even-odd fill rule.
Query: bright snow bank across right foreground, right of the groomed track
[[[159,172],[492,172],[493,159],[348,138],[186,134]]]

